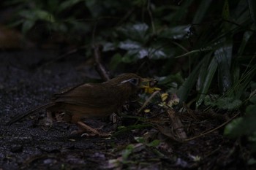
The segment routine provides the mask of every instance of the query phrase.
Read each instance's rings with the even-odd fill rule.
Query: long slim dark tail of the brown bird
[[[12,125],[12,123],[16,123],[18,120],[21,120],[23,117],[31,115],[32,113],[37,112],[41,109],[46,109],[48,107],[52,107],[53,105],[54,105],[53,102],[49,102],[49,103],[43,104],[39,107],[34,107],[33,109],[30,109],[27,112],[24,112],[20,115],[15,115],[15,117],[12,117],[12,119],[6,125]]]

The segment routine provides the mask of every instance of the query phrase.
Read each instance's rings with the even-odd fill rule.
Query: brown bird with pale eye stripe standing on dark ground
[[[48,112],[64,112],[65,115],[69,115],[69,120],[72,123],[93,131],[94,134],[99,134],[99,132],[83,123],[81,119],[111,115],[120,109],[124,102],[139,88],[143,88],[142,82],[148,81],[150,80],[129,73],[121,74],[107,82],[78,85],[53,95],[52,101],[42,106],[13,117],[7,125],[11,125],[33,112],[46,109]]]

